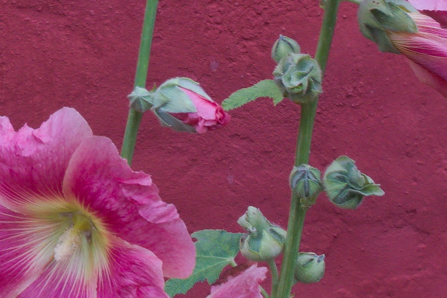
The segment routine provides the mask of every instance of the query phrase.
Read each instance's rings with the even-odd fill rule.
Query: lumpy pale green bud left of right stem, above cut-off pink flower
[[[240,252],[247,259],[266,261],[283,251],[287,232],[270,224],[259,209],[248,207],[237,223],[247,231],[240,242]]]

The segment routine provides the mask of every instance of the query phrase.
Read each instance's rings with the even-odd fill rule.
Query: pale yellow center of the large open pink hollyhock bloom
[[[29,218],[42,231],[44,240],[36,246],[36,262],[53,260],[89,280],[109,266],[110,231],[101,219],[79,200],[63,197],[40,198],[26,205]]]

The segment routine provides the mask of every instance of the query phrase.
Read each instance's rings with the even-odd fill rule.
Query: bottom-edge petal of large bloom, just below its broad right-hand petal
[[[111,238],[108,274],[98,280],[97,298],[169,298],[161,261],[149,250]]]

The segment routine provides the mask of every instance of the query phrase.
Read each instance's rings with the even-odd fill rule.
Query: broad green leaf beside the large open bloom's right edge
[[[191,236],[196,238],[196,267],[187,279],[170,279],[164,291],[173,297],[185,294],[196,283],[208,281],[211,285],[221,274],[225,266],[234,262],[239,252],[239,241],[242,233],[230,233],[225,230],[201,230]]]

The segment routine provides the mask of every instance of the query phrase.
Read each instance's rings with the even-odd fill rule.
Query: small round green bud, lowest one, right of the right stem
[[[319,282],[324,275],[324,254],[317,255],[313,252],[299,252],[295,279],[303,284]]]

